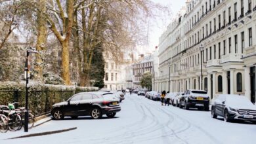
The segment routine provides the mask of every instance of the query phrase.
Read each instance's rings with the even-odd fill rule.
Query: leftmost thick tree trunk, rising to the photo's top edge
[[[37,51],[35,59],[35,79],[37,81],[43,81],[43,53],[45,51],[45,42],[47,39],[47,27],[46,20],[43,18],[43,12],[46,11],[46,1],[39,0],[41,10],[37,11]]]

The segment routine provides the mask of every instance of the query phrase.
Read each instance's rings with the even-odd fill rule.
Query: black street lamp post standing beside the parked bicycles
[[[25,99],[25,126],[24,126],[24,132],[28,132],[28,72],[29,72],[29,69],[28,69],[28,56],[30,56],[30,54],[35,54],[35,53],[38,53],[37,50],[35,50],[35,48],[28,48],[26,50],[27,52],[27,56],[26,56],[26,63],[25,63],[25,79],[26,79],[26,99]]]

